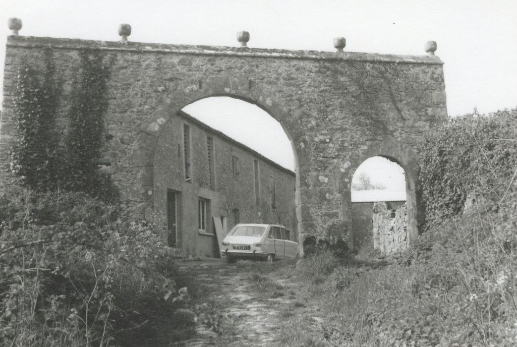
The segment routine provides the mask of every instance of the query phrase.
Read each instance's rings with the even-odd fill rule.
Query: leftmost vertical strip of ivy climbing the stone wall
[[[51,50],[44,51],[43,62],[42,71],[28,64],[18,70],[13,96],[17,136],[10,162],[11,171],[20,178],[20,183],[38,191],[52,189],[60,171],[55,131],[58,88]]]

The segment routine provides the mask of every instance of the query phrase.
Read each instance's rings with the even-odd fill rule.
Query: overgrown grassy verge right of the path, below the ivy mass
[[[280,345],[515,345],[514,205],[488,212],[476,205],[390,264],[323,251],[277,269],[275,278],[289,282],[283,291],[296,294],[277,307]],[[271,294],[278,290],[271,276],[249,281]]]

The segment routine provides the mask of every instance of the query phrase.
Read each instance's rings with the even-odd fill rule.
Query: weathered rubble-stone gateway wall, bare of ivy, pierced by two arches
[[[297,158],[300,241],[306,234],[349,238],[350,184],[358,165],[382,155],[408,177],[408,223],[416,230],[416,145],[446,117],[443,63],[432,56],[285,51],[10,36],[4,76],[0,161],[7,175],[12,91],[24,59],[53,49],[69,107],[78,52],[112,62],[105,156],[124,203],[150,212],[156,201],[155,153],[169,119],[209,96],[257,104],[290,137]]]

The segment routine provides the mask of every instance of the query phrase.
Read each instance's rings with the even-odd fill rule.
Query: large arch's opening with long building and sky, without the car
[[[269,113],[241,99],[207,97],[160,127],[154,209],[179,216],[169,230],[185,255],[218,257],[217,245],[239,222],[288,222],[297,240],[296,156]],[[163,206],[163,189],[178,192],[175,212]]]

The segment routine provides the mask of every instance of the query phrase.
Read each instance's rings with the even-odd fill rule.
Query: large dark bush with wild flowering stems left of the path
[[[84,193],[0,197],[0,345],[155,345],[183,307],[159,231]],[[187,327],[188,328],[188,327]]]

